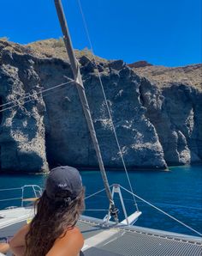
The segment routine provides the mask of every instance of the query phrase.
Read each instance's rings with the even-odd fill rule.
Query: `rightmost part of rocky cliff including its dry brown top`
[[[136,67],[134,72],[142,78],[142,104],[155,126],[165,161],[169,165],[201,162],[202,64]]]

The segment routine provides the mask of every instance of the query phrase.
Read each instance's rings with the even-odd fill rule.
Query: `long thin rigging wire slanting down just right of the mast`
[[[120,146],[120,143],[119,143],[117,134],[116,134],[115,125],[114,125],[114,122],[113,122],[113,119],[112,119],[112,116],[111,116],[111,113],[110,113],[110,107],[109,107],[109,104],[108,104],[108,102],[107,102],[106,94],[105,94],[105,92],[104,92],[104,85],[103,85],[103,82],[102,82],[102,79],[101,79],[101,76],[100,76],[100,73],[99,73],[99,70],[98,70],[98,64],[97,64],[96,59],[95,59],[95,54],[94,54],[93,47],[92,47],[92,40],[91,40],[91,38],[90,38],[90,34],[89,34],[89,32],[88,32],[88,28],[87,28],[87,24],[86,24],[86,18],[85,18],[83,9],[82,9],[81,4],[80,4],[80,0],[77,0],[77,2],[78,2],[78,4],[79,4],[79,7],[80,7],[80,14],[81,14],[82,20],[83,20],[83,22],[84,22],[84,26],[85,26],[85,30],[86,30],[86,36],[87,36],[89,45],[90,45],[90,47],[91,47],[92,58],[94,59],[94,62],[95,62],[95,65],[96,65],[96,70],[97,70],[97,73],[98,73],[99,83],[100,83],[100,85],[101,85],[102,92],[103,92],[103,94],[104,94],[104,101],[105,101],[105,104],[106,104],[106,107],[107,107],[107,111],[108,111],[109,116],[110,116],[110,122],[111,122],[111,126],[112,126],[112,129],[113,129],[113,131],[114,131],[115,138],[116,138],[116,144],[117,144],[117,147],[118,147],[118,150],[119,150],[119,155],[121,156],[122,165],[123,165],[124,171],[125,171],[126,176],[127,176],[127,179],[128,179],[128,184],[129,184],[130,190],[131,190],[131,192],[132,192],[132,196],[133,196],[133,198],[134,198],[134,205],[136,206],[136,209],[139,211],[138,204],[137,204],[136,199],[135,199],[135,197],[134,197],[133,187],[132,187],[132,185],[131,185],[131,181],[130,181],[130,178],[129,178],[129,175],[128,175],[128,170],[127,170],[127,168],[126,168],[126,164],[125,164],[125,161],[124,161],[124,159],[123,159],[122,149],[121,149],[121,146]]]

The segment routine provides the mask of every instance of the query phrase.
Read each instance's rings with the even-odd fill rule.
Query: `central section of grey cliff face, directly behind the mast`
[[[88,58],[81,58],[80,63],[104,164],[109,168],[122,168],[104,95],[98,75],[95,73],[95,65]],[[128,167],[165,168],[163,149],[157,133],[144,115],[146,109],[141,107],[139,76],[136,76],[122,61],[100,63],[99,69],[122,154]],[[64,76],[72,76],[69,64],[62,64],[56,59],[40,61],[35,70],[42,78],[43,88],[65,82]],[[74,83],[57,89],[54,97],[53,94],[45,96],[44,101],[46,153],[50,165],[98,167]]]

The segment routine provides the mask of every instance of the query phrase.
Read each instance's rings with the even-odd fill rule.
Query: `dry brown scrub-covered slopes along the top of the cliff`
[[[68,59],[66,49],[62,38],[59,40],[39,40],[25,46],[9,42],[7,38],[0,39],[0,43],[4,43],[1,49],[18,52],[18,54],[28,52],[39,58],[61,58]],[[81,51],[75,50],[77,58],[86,56],[93,59],[92,52],[85,48]],[[95,57],[98,62],[107,63],[109,60]],[[181,82],[191,85],[202,91],[202,64],[190,64],[184,67],[165,67],[159,65],[148,64],[146,61],[139,61],[134,64],[128,64],[136,74],[144,76],[151,82],[155,83],[158,88],[169,87],[170,83]]]

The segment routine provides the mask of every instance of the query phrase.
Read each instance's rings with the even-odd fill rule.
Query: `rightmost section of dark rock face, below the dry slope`
[[[202,94],[180,83],[161,90],[146,79],[141,81],[140,94],[165,161],[169,165],[201,162]]]

